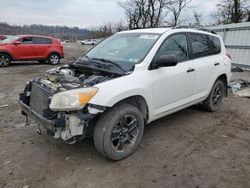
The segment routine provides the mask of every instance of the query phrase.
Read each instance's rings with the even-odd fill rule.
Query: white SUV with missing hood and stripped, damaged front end
[[[22,113],[73,144],[93,136],[112,160],[131,155],[144,126],[201,103],[218,111],[231,77],[222,38],[201,29],[117,33],[20,94]]]

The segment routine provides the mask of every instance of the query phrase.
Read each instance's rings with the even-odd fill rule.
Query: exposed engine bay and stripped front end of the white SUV
[[[44,76],[29,82],[24,92],[20,94],[22,114],[36,120],[39,130],[45,127],[55,138],[62,138],[67,143],[73,144],[92,135],[93,124],[106,107],[86,103],[79,109],[55,110],[51,108],[51,103],[57,101],[56,104],[66,102],[69,105],[74,104],[75,96],[67,92],[84,88],[88,91],[96,84],[119,76],[121,75],[76,67],[74,64],[48,70]],[[57,100],[54,99],[62,93],[65,94],[59,96]],[[84,100],[84,97],[79,101]]]

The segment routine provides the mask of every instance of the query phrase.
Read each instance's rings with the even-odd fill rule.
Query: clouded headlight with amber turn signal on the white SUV
[[[98,88],[81,88],[55,94],[50,103],[53,111],[74,111],[82,109],[97,93]]]

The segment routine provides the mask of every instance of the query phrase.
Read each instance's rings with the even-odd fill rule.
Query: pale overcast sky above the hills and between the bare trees
[[[184,19],[192,16],[192,9],[201,13],[204,23],[220,0],[193,0]],[[44,24],[90,28],[109,22],[125,20],[125,13],[117,0],[1,0],[0,22],[15,25]]]

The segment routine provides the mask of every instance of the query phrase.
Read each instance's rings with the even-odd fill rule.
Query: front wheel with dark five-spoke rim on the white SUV
[[[141,112],[134,106],[119,104],[105,112],[94,129],[94,144],[111,160],[122,160],[138,147],[144,131]]]

